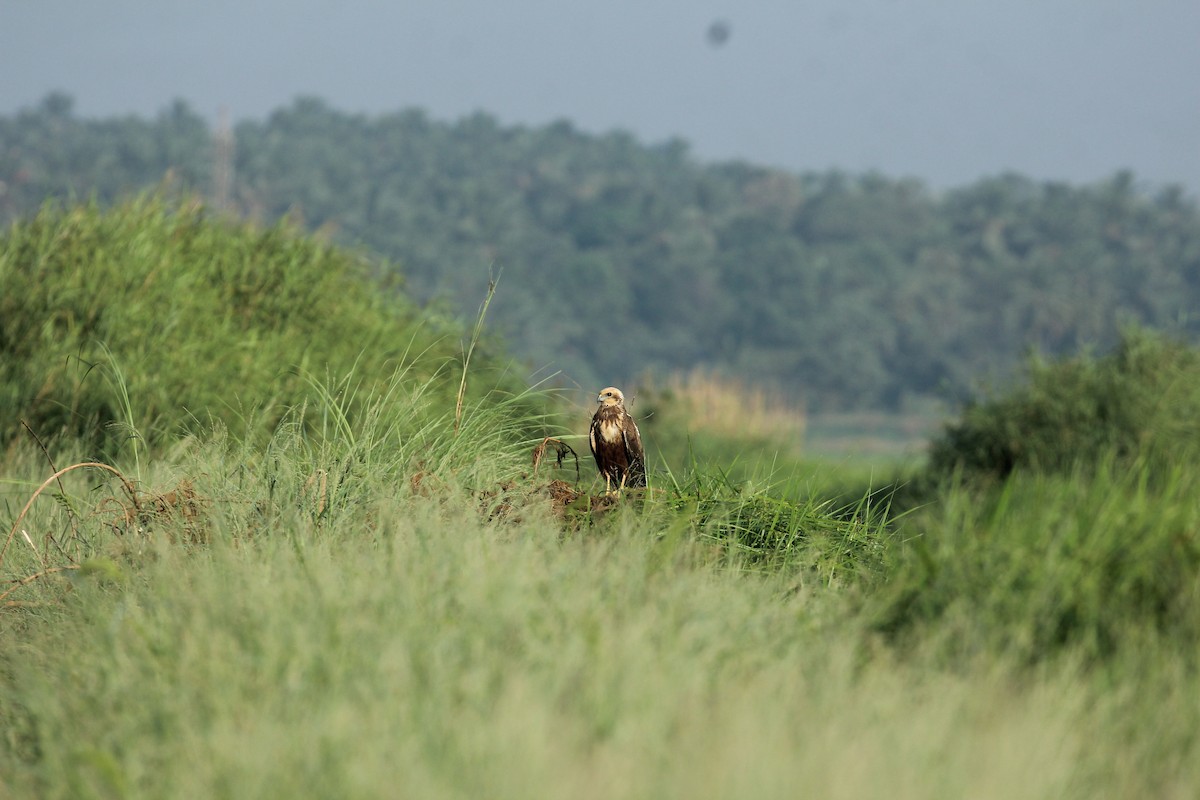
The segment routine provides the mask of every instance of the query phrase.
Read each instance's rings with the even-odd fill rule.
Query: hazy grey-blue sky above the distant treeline
[[[56,89],[89,116],[317,95],[935,187],[1129,168],[1200,193],[1198,0],[0,0],[0,113]]]

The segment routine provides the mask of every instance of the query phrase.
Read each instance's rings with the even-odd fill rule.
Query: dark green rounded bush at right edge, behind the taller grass
[[[930,449],[935,476],[1066,471],[1115,455],[1170,467],[1200,452],[1200,353],[1127,330],[1105,356],[1031,361],[1027,381],[970,404]]]

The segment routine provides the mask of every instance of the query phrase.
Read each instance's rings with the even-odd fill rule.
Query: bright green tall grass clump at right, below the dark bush
[[[1148,640],[1194,655],[1198,497],[1183,463],[1162,475],[1117,459],[950,489],[908,518],[907,545],[871,602],[876,625],[901,639],[932,633],[959,658],[1106,660]]]

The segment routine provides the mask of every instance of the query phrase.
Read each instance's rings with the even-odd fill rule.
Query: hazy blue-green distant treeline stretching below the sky
[[[490,324],[584,386],[703,365],[811,408],[958,395],[1031,348],[1106,348],[1124,323],[1200,332],[1195,199],[1128,173],[934,192],[703,163],[678,139],[565,121],[368,116],[314,98],[232,134],[220,146],[182,102],[83,119],[49,95],[0,118],[0,221],[169,174],[233,212],[290,213],[394,259],[418,300],[454,314],[473,317],[502,273]]]

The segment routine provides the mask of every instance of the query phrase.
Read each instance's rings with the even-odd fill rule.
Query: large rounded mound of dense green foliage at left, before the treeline
[[[452,398],[456,329],[287,223],[143,198],[49,206],[0,239],[0,404],[12,411],[0,441],[22,420],[106,451],[134,428],[157,441],[210,419],[262,437],[313,397],[307,375],[372,384],[415,354],[419,377],[439,375],[432,391]],[[358,384],[340,387],[346,414]]]

